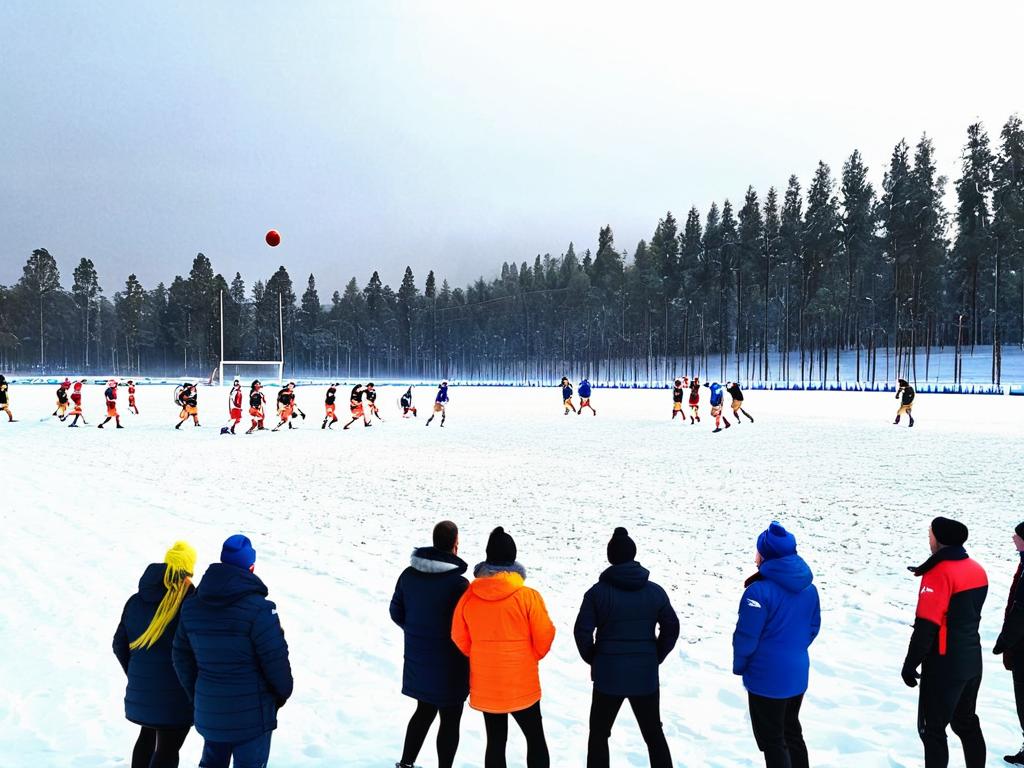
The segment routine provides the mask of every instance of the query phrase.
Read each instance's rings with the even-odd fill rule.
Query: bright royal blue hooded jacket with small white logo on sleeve
[[[807,690],[807,648],[818,635],[821,613],[814,577],[800,555],[761,563],[739,601],[732,636],[732,672],[743,687],[768,698]]]

